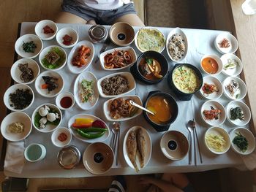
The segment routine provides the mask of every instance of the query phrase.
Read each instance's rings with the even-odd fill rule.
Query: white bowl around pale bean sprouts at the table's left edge
[[[24,131],[22,133],[12,133],[9,130],[11,123],[23,123]],[[12,112],[1,122],[1,134],[10,142],[18,142],[29,136],[32,130],[31,118],[25,112]]]

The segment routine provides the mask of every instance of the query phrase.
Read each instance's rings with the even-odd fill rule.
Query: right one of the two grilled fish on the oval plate
[[[140,168],[144,167],[145,153],[146,153],[146,141],[142,128],[138,128],[136,131],[137,146],[139,152]]]

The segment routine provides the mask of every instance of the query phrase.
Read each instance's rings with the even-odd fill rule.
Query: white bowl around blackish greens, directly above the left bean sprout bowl
[[[15,110],[15,107],[12,107],[10,105],[10,93],[15,93],[15,91],[17,89],[29,89],[30,93],[32,94],[32,100],[31,100],[31,103],[23,108],[22,110]],[[29,87],[29,85],[25,85],[25,84],[15,84],[15,85],[12,85],[10,86],[10,88],[7,89],[7,91],[5,91],[4,93],[4,105],[9,109],[9,110],[12,110],[12,111],[24,111],[24,110],[27,110],[29,109],[29,107],[31,107],[31,105],[33,104],[34,102],[34,91]]]

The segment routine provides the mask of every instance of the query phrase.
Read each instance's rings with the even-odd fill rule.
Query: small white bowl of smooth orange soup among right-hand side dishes
[[[206,74],[217,75],[222,72],[222,60],[217,55],[204,55],[200,66]]]

